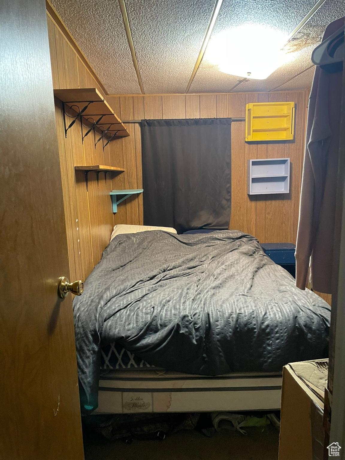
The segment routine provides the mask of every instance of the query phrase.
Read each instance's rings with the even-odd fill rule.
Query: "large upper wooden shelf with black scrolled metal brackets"
[[[102,139],[103,150],[110,141],[116,138],[129,136],[129,132],[115,114],[101,93],[96,88],[79,88],[79,89],[54,89],[54,96],[63,102],[63,121],[65,128],[65,136],[78,118],[81,121],[81,137],[82,140],[97,129],[99,138],[96,144]],[[68,112],[68,113],[67,113]],[[66,116],[73,118],[66,124]],[[86,127],[86,133],[83,134],[83,126]],[[104,144],[105,141],[105,144]]]

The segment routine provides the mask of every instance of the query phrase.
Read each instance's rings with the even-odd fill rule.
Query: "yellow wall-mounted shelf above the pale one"
[[[246,141],[293,139],[294,102],[254,102],[246,106]]]

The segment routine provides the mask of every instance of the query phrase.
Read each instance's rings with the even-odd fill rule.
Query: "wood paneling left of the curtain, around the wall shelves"
[[[49,14],[47,14],[47,21],[54,89],[97,88],[105,96],[102,88]],[[120,109],[117,106],[113,109],[117,115],[120,115]],[[99,142],[95,149],[92,132],[82,143],[79,121],[69,129],[67,138],[65,137],[62,104],[57,98],[55,99],[55,113],[70,276],[72,280],[85,280],[100,260],[104,248],[109,243],[114,226],[109,192],[116,188],[125,188],[125,186],[135,189],[141,186],[141,155],[138,157],[137,174],[136,156],[123,154],[123,150],[125,152],[135,150],[133,126],[129,128],[131,133],[129,138],[116,139],[109,143],[103,151],[102,142]],[[125,164],[126,172],[107,173],[106,178],[104,173],[100,173],[98,180],[97,173],[89,173],[88,191],[86,191],[85,174],[82,171],[75,171],[74,167],[95,164],[110,166]],[[137,175],[140,177],[139,181],[137,181]],[[116,222],[133,224],[142,222],[143,218],[138,217],[140,202],[142,216],[142,201],[134,198],[119,206],[119,212],[115,214]]]

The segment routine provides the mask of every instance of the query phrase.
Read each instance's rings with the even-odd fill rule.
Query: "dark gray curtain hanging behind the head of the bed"
[[[227,229],[231,118],[142,120],[144,224]]]

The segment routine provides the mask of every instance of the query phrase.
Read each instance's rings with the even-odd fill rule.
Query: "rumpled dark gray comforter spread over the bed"
[[[330,308],[236,230],[116,236],[75,297],[81,402],[97,407],[100,348],[190,374],[281,371],[327,353]]]

